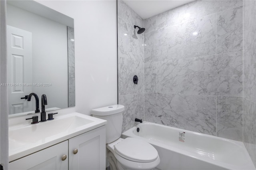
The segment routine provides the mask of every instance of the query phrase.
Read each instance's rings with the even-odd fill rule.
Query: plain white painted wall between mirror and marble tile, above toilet
[[[74,18],[76,111],[117,104],[116,1],[37,2]]]

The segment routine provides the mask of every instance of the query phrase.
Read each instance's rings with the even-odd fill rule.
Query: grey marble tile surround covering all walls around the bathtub
[[[142,20],[118,0],[123,131],[137,117],[244,141],[256,162],[255,23],[256,1],[198,0]]]

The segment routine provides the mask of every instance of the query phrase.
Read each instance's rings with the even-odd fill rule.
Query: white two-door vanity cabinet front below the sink
[[[106,128],[102,126],[14,160],[9,169],[104,170],[105,158]]]

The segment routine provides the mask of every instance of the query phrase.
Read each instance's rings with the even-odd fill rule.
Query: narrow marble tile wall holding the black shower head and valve
[[[143,19],[122,0],[118,0],[118,103],[125,106],[122,132],[144,119],[144,35]],[[133,76],[138,76],[138,84]]]

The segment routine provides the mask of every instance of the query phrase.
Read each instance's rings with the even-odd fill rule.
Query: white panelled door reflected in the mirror
[[[32,92],[32,33],[7,26],[9,114],[32,111],[32,103],[21,99]]]

